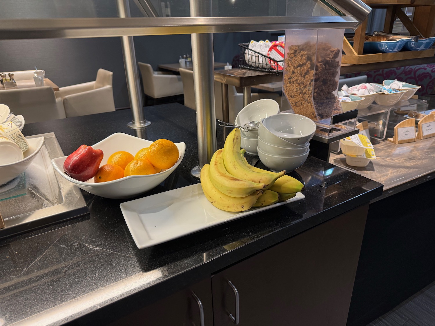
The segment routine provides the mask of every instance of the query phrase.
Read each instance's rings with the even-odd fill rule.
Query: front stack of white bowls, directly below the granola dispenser
[[[305,163],[315,123],[294,113],[280,113],[261,120],[258,129],[258,157],[272,171],[287,172]]]

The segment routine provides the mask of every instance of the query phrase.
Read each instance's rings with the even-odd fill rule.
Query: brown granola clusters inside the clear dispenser
[[[317,51],[316,51],[317,50]],[[285,58],[284,93],[294,113],[322,120],[341,113],[335,79],[340,69],[340,49],[329,43],[305,42],[288,47]]]

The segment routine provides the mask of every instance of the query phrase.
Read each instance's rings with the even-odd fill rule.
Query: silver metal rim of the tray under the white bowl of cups
[[[64,156],[54,133],[43,133],[29,136],[35,138],[44,136],[44,145],[50,155],[50,159]],[[89,212],[80,189],[74,184],[59,176],[56,172],[57,183],[59,184],[62,203],[42,208],[29,213],[22,214],[19,218],[5,220],[5,228],[0,230],[0,238],[13,234],[29,231],[40,226],[69,220]]]

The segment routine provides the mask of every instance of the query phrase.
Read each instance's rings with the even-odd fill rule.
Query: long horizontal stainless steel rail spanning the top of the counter
[[[368,13],[367,13],[368,14]],[[146,17],[0,20],[0,39],[86,38],[263,30],[355,29],[361,22],[336,17]]]

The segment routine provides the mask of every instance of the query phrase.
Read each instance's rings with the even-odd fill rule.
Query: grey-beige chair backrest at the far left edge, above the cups
[[[26,123],[65,118],[61,100],[56,101],[51,86],[0,90],[0,103],[9,106],[13,114],[22,114]]]

